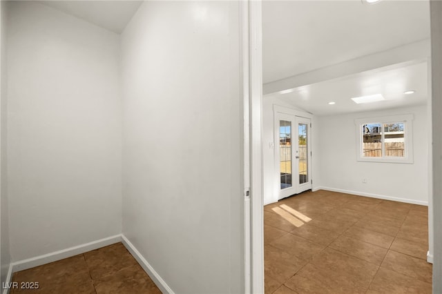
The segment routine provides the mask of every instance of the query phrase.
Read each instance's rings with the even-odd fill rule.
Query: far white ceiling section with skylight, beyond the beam
[[[293,92],[269,96],[283,99],[318,116],[425,104],[427,70],[427,61],[400,64],[301,86]],[[406,95],[404,92],[407,90],[416,92]],[[375,94],[383,95],[385,100],[356,104],[351,99]],[[336,104],[329,105],[331,101]]]

